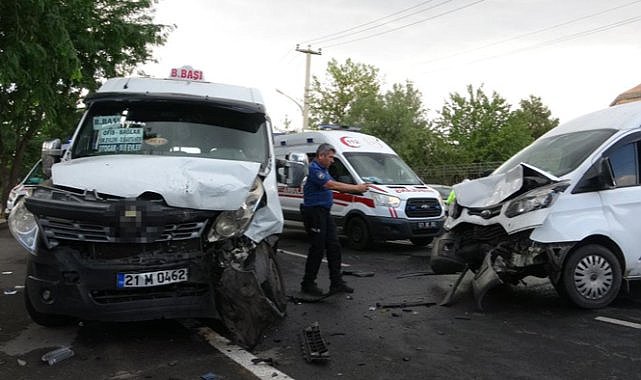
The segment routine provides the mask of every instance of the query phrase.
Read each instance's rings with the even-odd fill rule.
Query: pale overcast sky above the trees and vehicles
[[[159,0],[154,20],[175,29],[140,70],[190,65],[258,88],[276,130],[302,127],[297,44],[320,49],[321,81],[330,59],[351,58],[376,67],[384,91],[412,82],[429,118],[472,85],[514,107],[538,96],[563,123],[641,83],[641,0]]]

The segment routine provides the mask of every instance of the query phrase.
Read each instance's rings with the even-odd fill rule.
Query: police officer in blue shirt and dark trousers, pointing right
[[[316,276],[323,255],[327,253],[329,268],[330,293],[353,293],[347,286],[341,273],[341,246],[338,242],[336,224],[330,214],[332,207],[332,190],[350,193],[364,193],[367,184],[352,185],[334,181],[327,169],[334,163],[336,150],[330,144],[321,144],[316,149],[316,158],[309,165],[307,182],[303,187],[303,221],[311,245],[305,262],[305,275],[301,282],[301,291],[314,296],[323,295],[316,285]]]

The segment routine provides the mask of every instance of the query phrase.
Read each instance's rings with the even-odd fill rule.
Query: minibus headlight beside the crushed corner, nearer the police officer
[[[256,177],[245,202],[237,210],[220,213],[209,230],[207,240],[214,242],[242,235],[252,221],[264,195],[263,183]]]

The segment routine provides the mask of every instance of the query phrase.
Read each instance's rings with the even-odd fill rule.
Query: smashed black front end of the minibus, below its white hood
[[[211,211],[151,193],[37,188],[16,210],[32,214],[39,236],[27,270],[30,315],[43,325],[219,318],[239,344],[254,346],[286,306],[276,236],[257,243],[244,234],[264,206],[261,189],[257,178],[241,208]]]

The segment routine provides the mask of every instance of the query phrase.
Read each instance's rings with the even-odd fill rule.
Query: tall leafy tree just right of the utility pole
[[[310,91],[312,125],[356,125],[378,102],[378,69],[347,59],[340,65],[335,59],[327,64],[326,83],[314,76]]]

